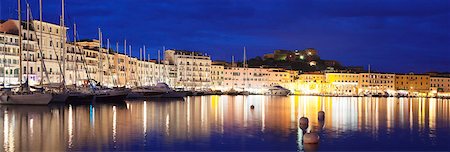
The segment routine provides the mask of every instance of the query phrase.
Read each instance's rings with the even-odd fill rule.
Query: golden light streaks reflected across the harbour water
[[[108,147],[130,144],[136,145],[137,150],[145,150],[139,149],[145,147],[141,144],[155,139],[155,144],[170,146],[177,142],[211,143],[212,139],[230,134],[255,137],[270,134],[286,139],[297,136],[292,143],[297,142],[298,148],[303,149],[303,133],[297,126],[302,116],[309,118],[308,132],[321,132],[328,139],[351,132],[379,138],[385,135],[380,132],[385,128],[395,133],[393,129],[408,126],[415,132],[422,122],[427,138],[436,138],[439,129],[450,126],[448,100],[313,96],[186,99],[133,101],[95,108],[72,105],[48,111],[33,109],[34,114],[21,110],[22,107],[8,107],[0,115],[3,122],[0,151],[108,151]],[[250,105],[255,108],[250,109]],[[324,122],[317,119],[320,110],[325,112]]]

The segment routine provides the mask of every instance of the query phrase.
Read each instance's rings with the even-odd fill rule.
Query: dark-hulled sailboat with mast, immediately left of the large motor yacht
[[[99,61],[100,61],[100,82],[103,81],[103,63],[102,63],[102,56],[103,56],[103,52],[102,52],[102,32],[100,30],[100,28],[98,29],[98,33],[99,33],[99,40],[100,40],[100,44],[99,44]],[[109,51],[109,50],[106,50]],[[109,56],[106,56],[106,58],[109,58]],[[109,66],[109,65],[108,65]],[[108,71],[110,71],[109,67],[108,67]],[[93,94],[94,94],[94,101],[95,102],[123,102],[125,100],[125,98],[127,97],[128,93],[130,92],[129,89],[127,88],[106,88],[104,86],[101,85],[101,83],[96,82],[95,80],[90,80],[90,85],[91,88],[93,89]]]

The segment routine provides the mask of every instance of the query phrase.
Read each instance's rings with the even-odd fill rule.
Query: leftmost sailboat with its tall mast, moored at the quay
[[[21,17],[21,5],[18,0],[18,22],[19,22],[19,83],[20,87],[14,91],[1,92],[0,104],[15,104],[15,105],[46,105],[52,99],[51,94],[43,91],[32,91],[28,85],[28,76],[24,84],[22,84],[22,17]],[[27,13],[29,13],[29,7],[27,7]],[[27,15],[28,16],[28,15]],[[29,18],[29,16],[28,16]],[[30,26],[27,20],[27,28]]]

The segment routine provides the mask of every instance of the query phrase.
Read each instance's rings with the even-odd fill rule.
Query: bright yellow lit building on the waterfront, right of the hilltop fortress
[[[330,94],[358,95],[359,74],[325,73],[326,82],[331,85]]]

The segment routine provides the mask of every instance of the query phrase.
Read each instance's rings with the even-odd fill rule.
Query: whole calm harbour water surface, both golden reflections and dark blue
[[[0,109],[0,151],[450,149],[446,99],[199,96]],[[303,116],[319,144],[302,144]]]

